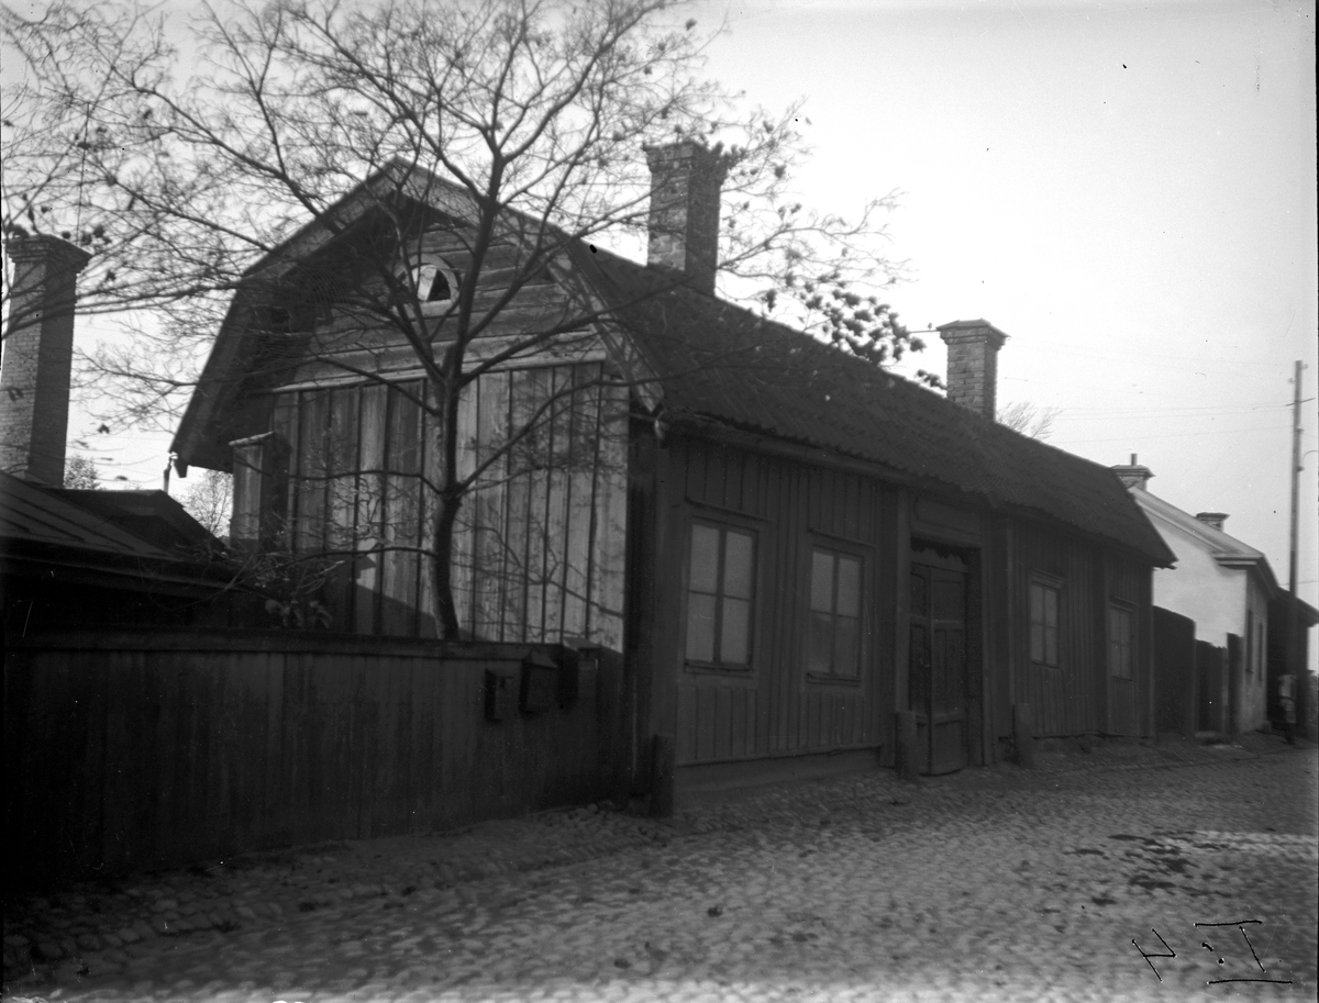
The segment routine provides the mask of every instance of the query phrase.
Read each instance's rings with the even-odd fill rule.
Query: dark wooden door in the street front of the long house
[[[959,558],[922,551],[913,560],[910,630],[918,768],[951,774],[967,764],[967,567]]]

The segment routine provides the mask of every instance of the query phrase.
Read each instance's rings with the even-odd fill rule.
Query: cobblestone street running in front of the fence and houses
[[[1246,735],[261,854],[11,903],[4,995],[1315,999],[1315,783]]]

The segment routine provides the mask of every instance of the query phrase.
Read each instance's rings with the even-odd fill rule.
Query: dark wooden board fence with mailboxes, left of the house
[[[536,670],[550,681],[538,713],[518,700],[533,651],[558,660]],[[11,639],[5,886],[616,796],[621,658],[575,655],[288,631]],[[497,721],[489,676],[503,680]]]

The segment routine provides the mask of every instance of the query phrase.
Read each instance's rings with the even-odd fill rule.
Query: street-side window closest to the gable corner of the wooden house
[[[687,583],[687,660],[751,664],[756,536],[731,526],[691,527]]]

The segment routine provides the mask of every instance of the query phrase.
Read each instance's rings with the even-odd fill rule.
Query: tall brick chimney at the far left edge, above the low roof
[[[0,362],[0,469],[65,481],[78,273],[91,256],[58,237],[11,237],[9,324]]]

